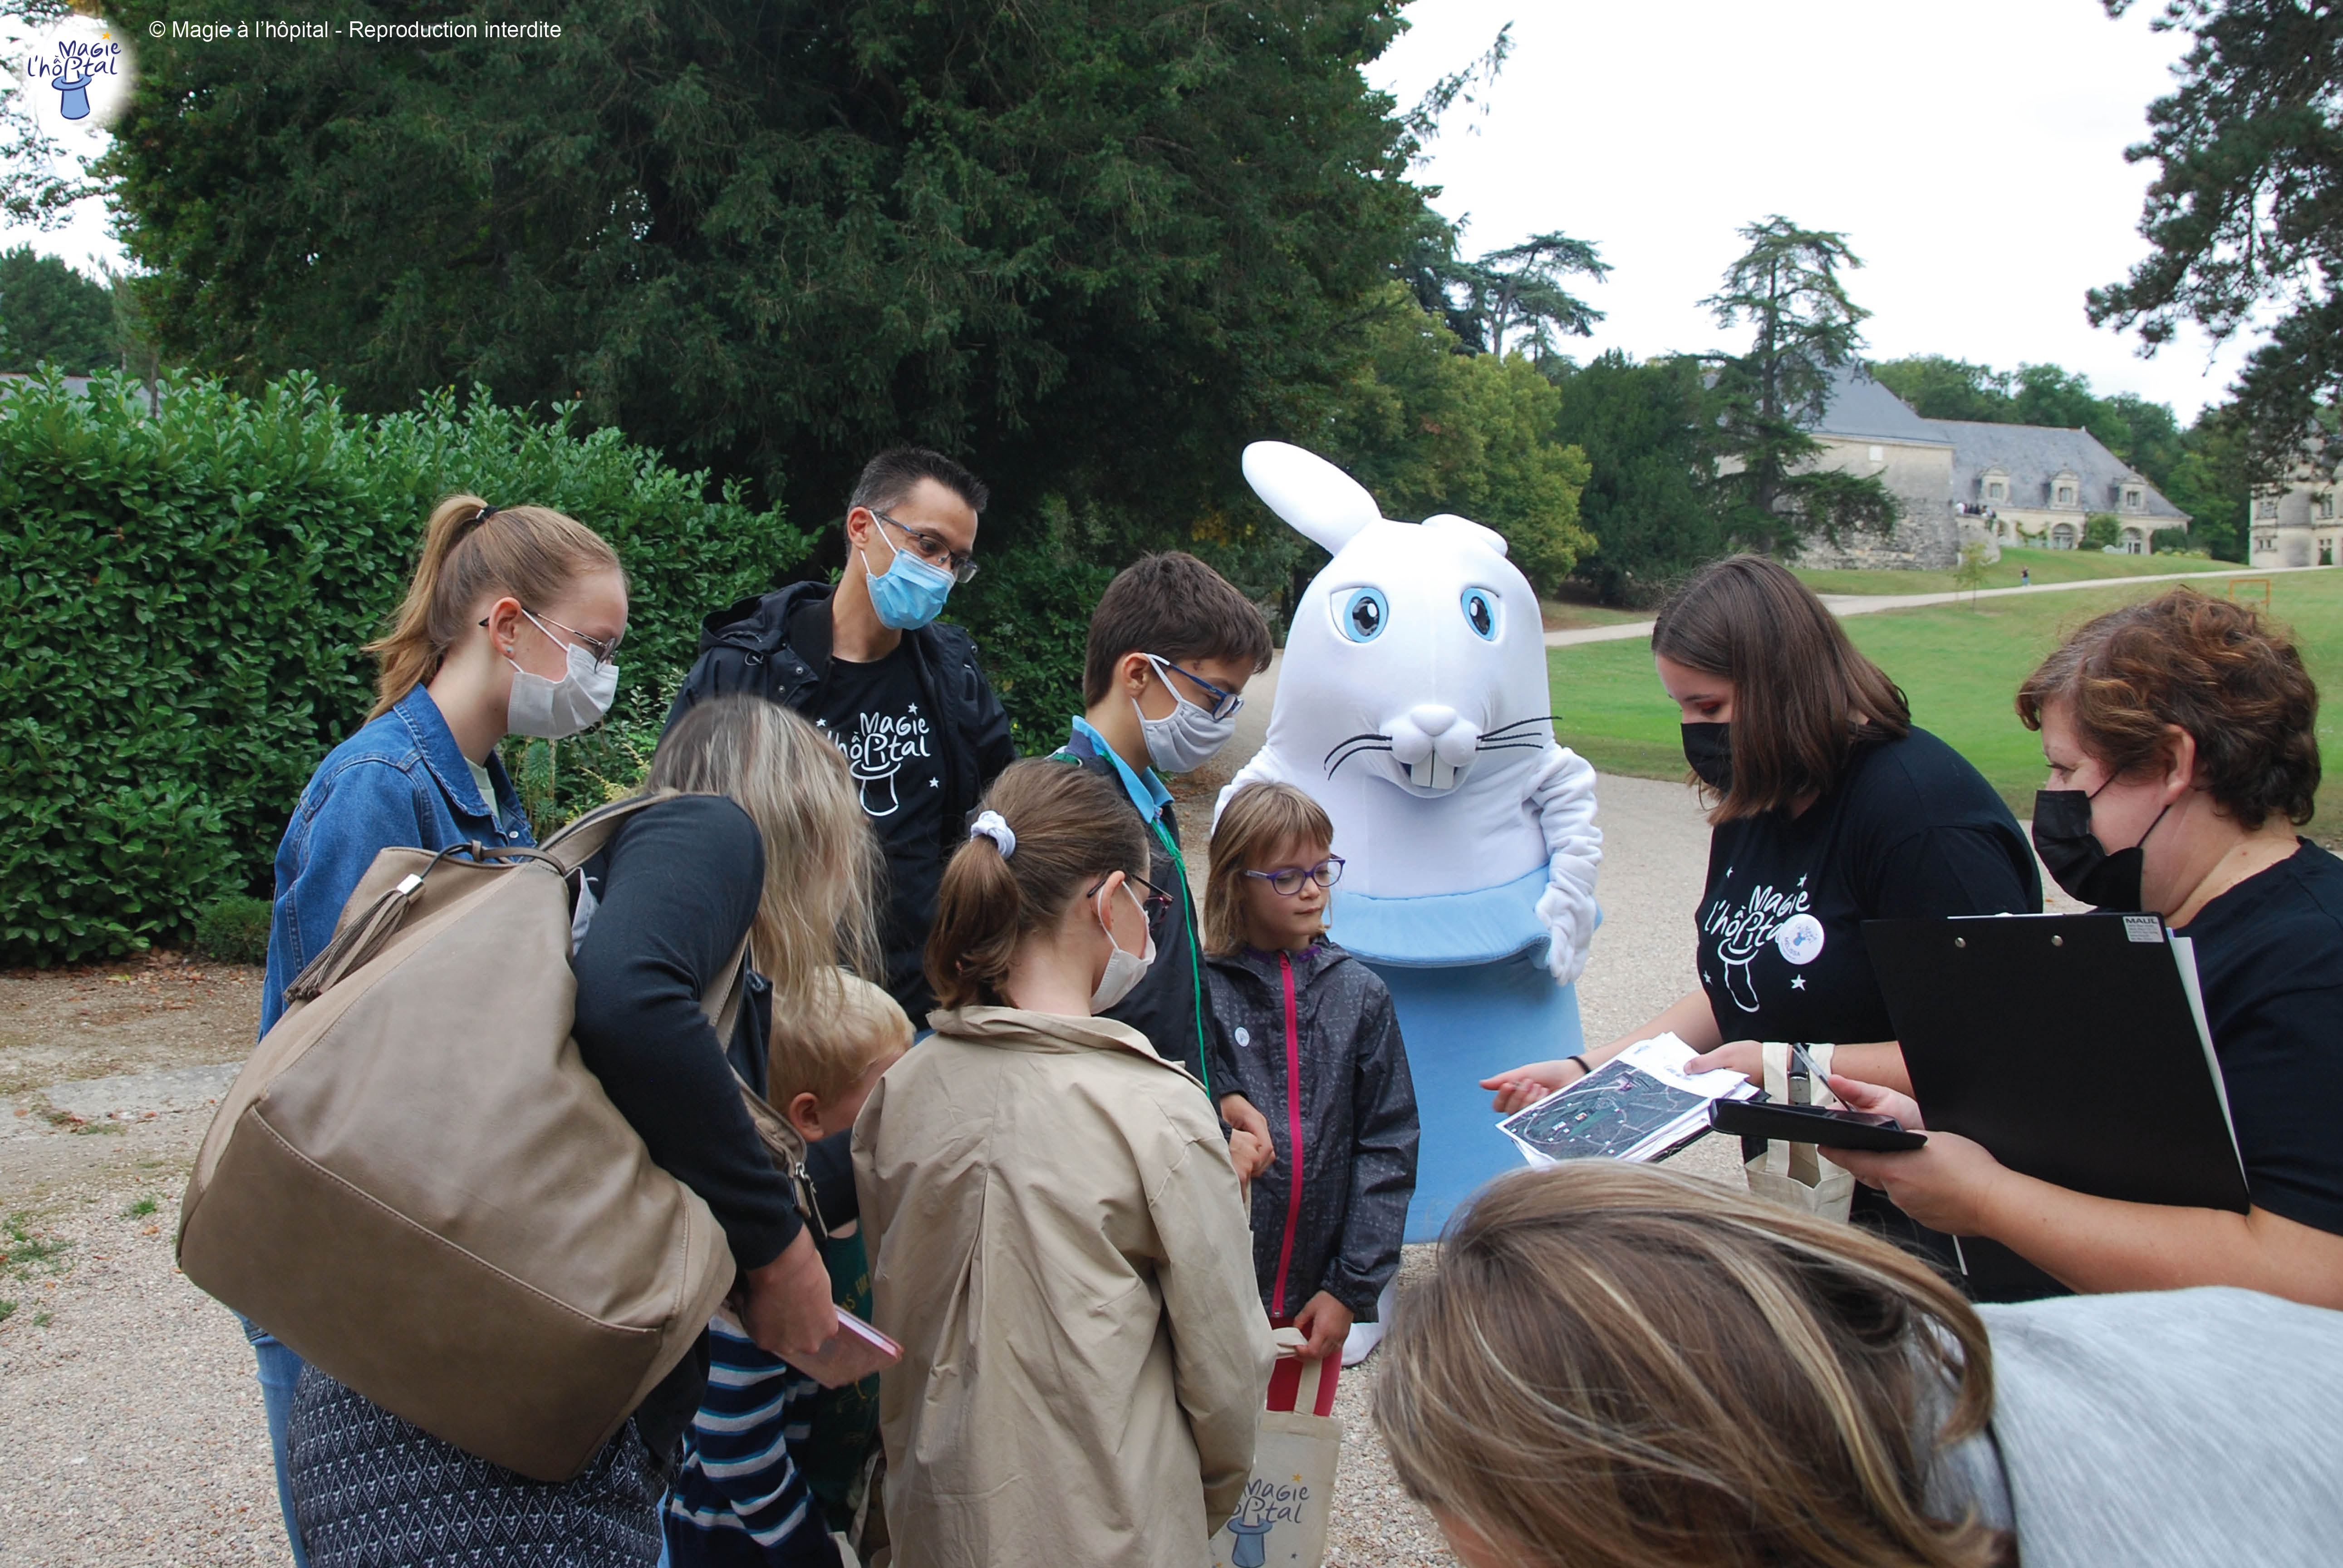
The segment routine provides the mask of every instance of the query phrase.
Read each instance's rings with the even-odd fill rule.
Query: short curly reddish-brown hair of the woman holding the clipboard
[[[2195,741],[2195,780],[2240,827],[2308,823],[2320,792],[2320,689],[2294,638],[2249,605],[2170,588],[2085,621],[2017,687],[2017,717],[2062,703],[2109,776],[2153,769],[2165,729]]]

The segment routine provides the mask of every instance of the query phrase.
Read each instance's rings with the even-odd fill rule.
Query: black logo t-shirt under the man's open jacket
[[[806,713],[855,776],[862,813],[886,855],[886,984],[911,1022],[925,1027],[935,1005],[921,975],[935,884],[944,877],[944,764],[907,647],[886,659],[832,659],[815,705]]]

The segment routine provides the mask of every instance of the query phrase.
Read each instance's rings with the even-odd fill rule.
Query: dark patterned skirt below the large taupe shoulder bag
[[[658,1561],[658,1463],[619,1427],[560,1486],[464,1453],[314,1366],[286,1434],[309,1568],[647,1568]]]

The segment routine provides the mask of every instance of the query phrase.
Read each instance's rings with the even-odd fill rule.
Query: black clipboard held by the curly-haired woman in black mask
[[[2095,1198],[2247,1212],[2195,959],[2160,916],[1863,921],[1863,945],[1928,1127]],[[1982,1298],[2048,1294],[2006,1247],[1961,1252]]]

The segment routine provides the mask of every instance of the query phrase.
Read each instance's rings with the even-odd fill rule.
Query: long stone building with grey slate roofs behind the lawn
[[[1903,520],[1888,534],[1846,534],[1839,548],[1813,541],[1799,553],[1804,565],[1942,570],[1970,539],[1994,555],[2003,544],[2074,551],[2102,511],[2116,516],[2118,548],[2134,555],[2149,553],[2158,530],[2188,527],[2188,513],[2090,431],[1921,420],[1860,363],[1837,373],[1811,434],[1823,443],[1818,464],[1877,476]]]

